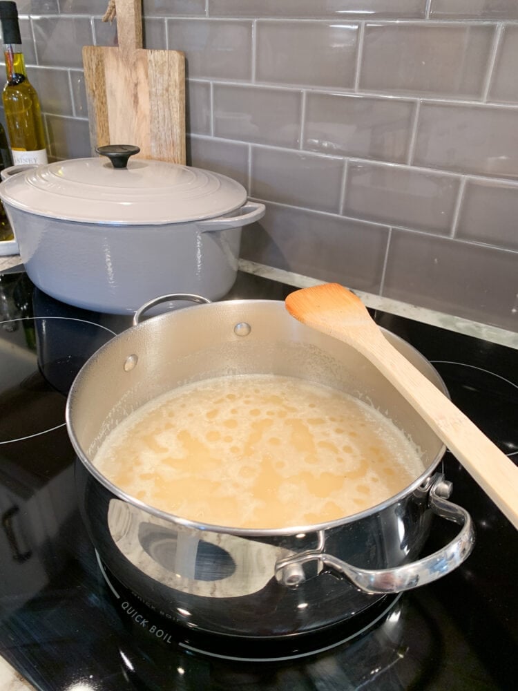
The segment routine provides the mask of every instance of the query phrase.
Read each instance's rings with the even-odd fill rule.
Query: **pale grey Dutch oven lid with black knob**
[[[102,158],[58,161],[13,175],[2,182],[1,198],[38,216],[121,225],[215,218],[247,200],[242,184],[220,173],[128,160],[140,151],[137,146],[102,146],[97,151]]]

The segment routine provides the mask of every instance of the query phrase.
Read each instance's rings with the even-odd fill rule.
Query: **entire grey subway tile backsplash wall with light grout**
[[[91,155],[107,4],[18,1],[51,159]],[[142,8],[144,47],[185,53],[189,164],[267,204],[244,258],[518,330],[516,0]]]

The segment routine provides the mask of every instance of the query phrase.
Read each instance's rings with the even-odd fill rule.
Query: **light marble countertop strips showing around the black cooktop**
[[[21,263],[19,256],[0,256],[0,271],[15,267]],[[240,270],[248,274],[256,274],[263,278],[270,278],[273,281],[287,283],[295,287],[304,288],[311,285],[318,285],[324,281],[318,281],[309,276],[291,274],[281,269],[256,264],[249,261],[240,261]],[[367,307],[382,310],[390,314],[414,319],[443,329],[456,331],[468,336],[474,336],[493,343],[507,345],[518,350],[518,334],[499,329],[495,326],[477,323],[468,319],[461,319],[451,314],[443,314],[426,310],[423,307],[402,303],[399,301],[383,298],[378,295],[354,291]],[[0,691],[22,691],[33,689],[32,685],[11,668],[11,666],[0,656]]]

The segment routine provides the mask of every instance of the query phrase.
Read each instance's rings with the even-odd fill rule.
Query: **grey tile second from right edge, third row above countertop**
[[[403,163],[415,107],[412,101],[309,91],[304,148]]]

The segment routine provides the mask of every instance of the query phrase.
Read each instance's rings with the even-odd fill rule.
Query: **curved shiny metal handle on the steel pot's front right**
[[[276,564],[276,578],[284,585],[296,586],[305,580],[303,564],[318,560],[350,581],[365,593],[399,593],[449,574],[470,555],[474,545],[474,528],[468,511],[448,502],[451,483],[445,482],[437,473],[431,479],[428,507],[434,513],[462,526],[457,536],[442,549],[410,564],[393,569],[361,569],[347,564],[332,554],[318,549],[307,550],[296,556],[279,560]],[[322,540],[323,542],[323,540]],[[322,545],[323,547],[323,545]]]

